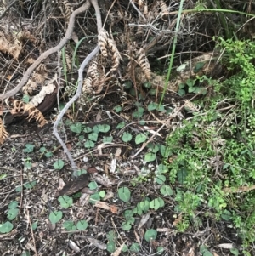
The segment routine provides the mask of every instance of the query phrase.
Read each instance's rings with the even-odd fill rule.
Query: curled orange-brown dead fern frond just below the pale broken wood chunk
[[[28,121],[31,121],[31,119],[36,119],[39,127],[42,127],[47,123],[47,120],[43,117],[42,112],[37,110],[34,105],[31,105],[29,103],[26,104],[25,102],[20,100],[14,100],[13,105],[14,107],[10,111],[12,115],[24,116],[27,114]]]

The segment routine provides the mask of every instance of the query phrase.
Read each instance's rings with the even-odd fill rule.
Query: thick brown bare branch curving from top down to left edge
[[[84,3],[80,8],[76,9],[70,16],[70,20],[69,20],[69,24],[68,24],[68,28],[66,30],[65,33],[65,37],[60,41],[60,43],[58,45],[56,45],[54,48],[50,48],[48,49],[48,51],[44,52],[26,71],[25,75],[22,77],[20,83],[13,88],[12,90],[8,91],[8,93],[6,94],[0,94],[0,100],[5,100],[9,97],[14,96],[15,94],[17,94],[20,90],[20,88],[22,88],[22,86],[24,86],[26,84],[26,82],[28,81],[29,77],[31,76],[31,72],[34,71],[38,65],[41,64],[42,60],[45,60],[46,58],[48,58],[48,56],[50,54],[54,54],[55,52],[59,51],[63,46],[65,46],[65,43],[68,42],[68,40],[70,40],[71,35],[72,35],[72,31],[74,29],[74,25],[75,25],[75,18],[77,16],[77,14],[81,14],[83,12],[85,12],[90,6],[90,2],[87,1],[86,3]]]

